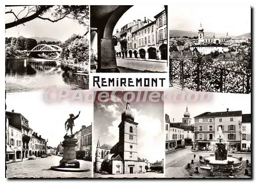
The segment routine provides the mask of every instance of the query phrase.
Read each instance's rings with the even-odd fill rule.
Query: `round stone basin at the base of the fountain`
[[[204,159],[208,160],[209,163],[204,162]],[[233,164],[228,164],[233,162]],[[236,170],[242,167],[242,161],[237,157],[227,157],[226,160],[215,160],[215,156],[205,156],[199,159],[199,163],[202,166],[212,166],[215,170]]]

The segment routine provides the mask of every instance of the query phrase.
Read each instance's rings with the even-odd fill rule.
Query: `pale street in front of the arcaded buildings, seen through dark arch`
[[[119,71],[122,72],[160,72],[167,73],[167,60],[166,62],[153,62],[135,59],[122,59],[116,58]],[[134,70],[134,71],[133,71]]]

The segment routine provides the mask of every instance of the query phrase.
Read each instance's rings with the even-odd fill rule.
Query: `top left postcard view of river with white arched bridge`
[[[89,88],[89,6],[6,6],[8,93]]]

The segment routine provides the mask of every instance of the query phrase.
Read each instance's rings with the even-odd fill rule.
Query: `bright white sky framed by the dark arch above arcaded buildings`
[[[141,8],[141,6],[143,6],[143,8]],[[156,16],[158,13],[160,13],[161,11],[164,10],[164,5],[134,5],[133,7],[131,7],[129,10],[127,10],[123,16],[118,20],[114,31],[113,31],[113,35],[116,34],[116,30],[118,29],[119,31],[121,30],[121,28],[123,26],[125,26],[126,24],[133,22],[133,20],[138,20],[140,19],[141,21],[144,21],[144,17],[154,21],[155,18],[154,16]]]

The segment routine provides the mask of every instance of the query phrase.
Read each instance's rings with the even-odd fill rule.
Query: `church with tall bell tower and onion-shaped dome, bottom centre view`
[[[145,162],[138,157],[138,123],[134,121],[134,113],[130,103],[126,104],[119,124],[119,142],[113,147],[96,147],[94,171],[105,171],[110,174],[145,173]]]

